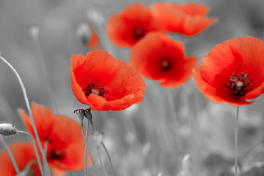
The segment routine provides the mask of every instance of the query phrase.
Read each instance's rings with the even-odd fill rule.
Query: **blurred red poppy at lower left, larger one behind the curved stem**
[[[84,169],[85,143],[79,123],[69,117],[53,115],[52,110],[32,103],[33,118],[42,147],[48,139],[47,160],[50,167],[63,171]],[[23,109],[18,109],[29,133],[35,137],[29,116]],[[88,165],[92,162],[89,159]]]

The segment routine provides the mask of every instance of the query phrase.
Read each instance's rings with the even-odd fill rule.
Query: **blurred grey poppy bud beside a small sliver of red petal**
[[[87,42],[91,38],[91,29],[87,23],[80,23],[79,26],[77,27],[77,36],[79,40],[81,40],[83,45],[87,45]]]

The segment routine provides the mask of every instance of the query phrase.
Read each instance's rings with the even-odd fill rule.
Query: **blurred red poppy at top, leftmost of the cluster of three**
[[[150,31],[164,30],[151,10],[142,3],[127,6],[112,14],[106,23],[106,33],[114,45],[131,47]]]

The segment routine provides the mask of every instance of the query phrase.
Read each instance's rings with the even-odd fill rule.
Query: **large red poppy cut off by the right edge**
[[[240,106],[264,92],[264,43],[237,37],[216,45],[193,69],[193,80],[209,100]]]

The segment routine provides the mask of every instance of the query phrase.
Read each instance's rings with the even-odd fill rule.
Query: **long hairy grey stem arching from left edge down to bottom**
[[[27,93],[26,93],[25,86],[24,86],[24,84],[23,84],[23,82],[21,80],[21,77],[18,75],[18,72],[16,71],[16,69],[14,69],[14,67],[9,62],[7,62],[4,59],[4,57],[1,56],[1,53],[0,53],[0,59],[14,72],[14,74],[16,75],[16,78],[18,79],[18,82],[19,82],[19,84],[21,86],[21,89],[22,89],[22,92],[23,92],[23,95],[24,95],[24,99],[25,99],[26,106],[27,106],[27,109],[28,109],[28,114],[29,114],[29,117],[30,117],[30,120],[31,120],[32,128],[33,128],[33,131],[34,131],[37,143],[38,143],[38,148],[39,148],[40,153],[41,153],[42,158],[43,158],[44,168],[45,168],[45,170],[47,170],[48,175],[51,176],[50,169],[49,169],[49,166],[48,166],[48,161],[47,161],[47,158],[45,156],[44,150],[43,150],[43,148],[41,146],[40,139],[39,139],[38,132],[37,132],[37,128],[35,126],[35,122],[34,122],[34,118],[33,118],[33,115],[32,115],[32,112],[31,112],[31,108],[30,108],[30,105],[29,105],[28,96],[27,96]]]

